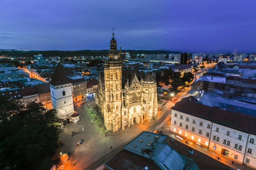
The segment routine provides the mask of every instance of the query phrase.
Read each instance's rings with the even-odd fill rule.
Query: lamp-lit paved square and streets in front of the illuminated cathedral
[[[189,89],[190,88],[187,90]],[[101,125],[103,124],[102,115],[94,108],[94,99],[74,103],[75,112],[80,114],[80,121],[65,125],[60,137],[60,140],[63,141],[61,152],[70,155],[70,160],[65,164],[65,169],[93,170],[98,168],[98,170],[102,170],[103,168],[100,166],[103,163],[119,153],[123,149],[123,146],[138,136],[141,132],[154,132],[155,130],[163,131],[164,134],[174,138],[174,142],[169,143],[169,145],[173,146],[174,149],[186,156],[188,156],[188,148],[194,148],[194,153],[196,154],[190,155],[190,158],[193,158],[200,167],[210,164],[213,169],[219,170],[230,169],[229,167],[241,170],[253,169],[223,155],[220,155],[219,159],[217,159],[217,153],[202,146],[198,146],[191,141],[187,144],[184,139],[181,141],[176,137],[176,134],[170,132],[170,108],[177,102],[177,100],[180,100],[185,93],[186,92],[177,94],[173,98],[173,101],[169,101],[168,104],[165,105],[162,111],[158,111],[157,120],[153,120],[151,123],[145,122],[145,124],[133,124],[131,128],[120,130],[117,133],[108,132],[107,134]],[[100,122],[102,123],[100,124]],[[70,133],[72,131],[76,132],[76,135],[71,136]],[[76,146],[79,140],[82,140],[83,143]],[[234,164],[232,164],[232,161]]]

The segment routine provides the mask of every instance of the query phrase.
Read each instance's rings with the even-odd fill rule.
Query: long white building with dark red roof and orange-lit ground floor
[[[173,133],[256,167],[256,117],[205,106],[192,96],[171,109]]]

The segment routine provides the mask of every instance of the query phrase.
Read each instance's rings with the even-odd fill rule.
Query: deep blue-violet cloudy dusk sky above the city
[[[1,0],[0,49],[256,52],[256,0]]]

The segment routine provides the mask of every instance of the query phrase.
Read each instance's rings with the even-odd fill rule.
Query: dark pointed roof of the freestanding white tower
[[[64,73],[64,68],[61,66],[60,63],[58,63],[53,76],[52,80],[50,81],[50,84],[53,86],[63,85],[63,84],[69,84],[71,83],[70,79],[66,77]]]

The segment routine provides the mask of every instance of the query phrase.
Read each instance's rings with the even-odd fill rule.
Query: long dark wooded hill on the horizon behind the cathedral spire
[[[109,50],[79,50],[79,51],[28,51],[28,50],[0,50],[0,56],[7,55],[12,57],[34,57],[34,55],[42,54],[43,57],[73,57],[73,56],[106,56]],[[180,53],[177,51],[165,51],[165,50],[122,50],[122,52],[128,52],[130,55],[137,54],[171,54]]]

